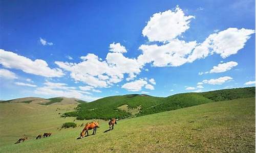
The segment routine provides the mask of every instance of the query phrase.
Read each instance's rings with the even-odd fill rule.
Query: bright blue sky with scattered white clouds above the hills
[[[255,1],[0,1],[0,99],[255,86]]]

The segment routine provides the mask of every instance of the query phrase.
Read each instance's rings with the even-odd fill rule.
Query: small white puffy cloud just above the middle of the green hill
[[[147,82],[143,79],[136,80],[134,82],[125,83],[121,88],[124,88],[128,91],[140,91],[142,87],[144,87]]]

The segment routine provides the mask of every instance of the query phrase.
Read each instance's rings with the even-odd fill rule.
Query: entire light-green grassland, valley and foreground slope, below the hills
[[[57,105],[1,103],[0,152],[255,152],[255,98],[217,101],[117,121],[113,131],[100,120],[96,135],[76,139],[83,127],[57,130]],[[17,106],[21,107],[18,108]],[[61,111],[67,105],[61,105]],[[38,107],[38,111],[25,107]],[[4,110],[4,112],[3,112]],[[91,120],[75,120],[76,123]],[[52,136],[36,140],[43,132]],[[14,144],[22,135],[29,140]]]

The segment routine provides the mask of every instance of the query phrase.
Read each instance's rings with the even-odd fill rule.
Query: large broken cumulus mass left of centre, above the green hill
[[[112,47],[113,50],[114,47]],[[142,65],[136,59],[126,58],[122,53],[108,53],[106,60],[102,61],[95,54],[82,56],[80,63],[68,63],[56,61],[62,69],[70,72],[70,76],[77,82],[83,82],[94,88],[108,88],[115,83],[121,82],[124,74],[129,77],[126,80],[133,80],[136,74],[140,73]]]

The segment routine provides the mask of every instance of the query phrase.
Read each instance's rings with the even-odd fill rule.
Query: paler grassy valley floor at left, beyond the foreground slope
[[[44,106],[25,103],[0,104],[0,146],[14,142],[22,135],[31,138],[43,132],[55,133],[63,123],[74,120],[74,118],[61,118],[60,114],[74,110],[76,106]]]

